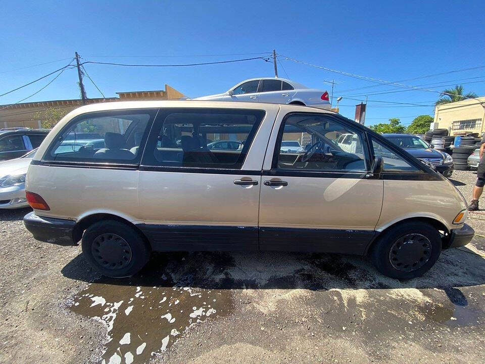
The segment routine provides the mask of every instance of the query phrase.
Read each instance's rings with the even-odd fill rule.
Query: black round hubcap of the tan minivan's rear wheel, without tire
[[[103,268],[117,270],[131,261],[131,248],[125,239],[116,234],[105,233],[94,239],[91,245],[94,260]]]

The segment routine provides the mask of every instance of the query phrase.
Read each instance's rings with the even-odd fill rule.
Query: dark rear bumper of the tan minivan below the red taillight
[[[24,216],[24,225],[36,240],[58,245],[76,245],[73,240],[76,222],[73,220],[41,217],[30,212]]]

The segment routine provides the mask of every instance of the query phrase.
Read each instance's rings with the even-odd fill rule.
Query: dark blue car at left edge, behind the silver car
[[[46,129],[7,128],[0,130],[0,162],[22,157],[37,148],[49,134]]]

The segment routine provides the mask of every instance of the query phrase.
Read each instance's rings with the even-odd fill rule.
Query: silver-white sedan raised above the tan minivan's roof
[[[292,104],[330,109],[326,90],[308,88],[285,78],[252,78],[231,87],[224,94],[204,96],[193,100],[247,101],[270,104]]]

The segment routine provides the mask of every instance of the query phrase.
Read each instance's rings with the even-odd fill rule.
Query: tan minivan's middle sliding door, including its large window
[[[160,110],[138,184],[139,228],[156,250],[258,249],[261,169],[247,170],[244,162],[264,115],[250,109]],[[207,147],[224,140],[243,147]]]

